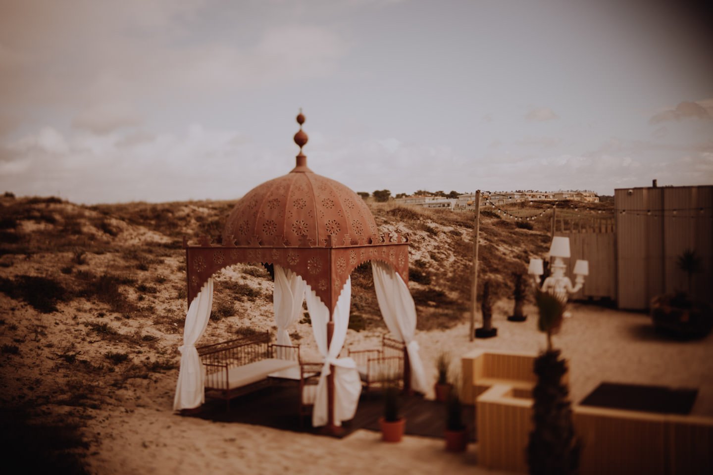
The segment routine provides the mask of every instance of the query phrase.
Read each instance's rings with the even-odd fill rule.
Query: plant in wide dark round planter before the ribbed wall
[[[651,318],[657,330],[678,338],[703,338],[713,328],[713,313],[707,303],[692,296],[693,276],[702,271],[702,259],[686,249],[677,266],[688,274],[688,292],[677,291],[656,296],[651,301]]]

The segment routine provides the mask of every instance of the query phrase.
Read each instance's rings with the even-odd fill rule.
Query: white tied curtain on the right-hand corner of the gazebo
[[[419,355],[419,343],[414,340],[416,305],[409,292],[409,286],[394,271],[394,268],[386,263],[371,261],[371,271],[374,274],[376,299],[379,301],[386,328],[389,328],[389,332],[394,337],[406,343],[411,365],[411,389],[425,393],[424,364]]]

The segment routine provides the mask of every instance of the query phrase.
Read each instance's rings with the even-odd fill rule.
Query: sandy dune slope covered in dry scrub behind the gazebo
[[[86,427],[101,426],[113,411],[153,407],[152,395],[173,392],[186,310],[181,242],[183,236],[218,236],[234,204],[83,207],[53,197],[0,197],[0,405],[6,421],[0,444],[16,454],[17,467],[55,464],[84,473],[81,456],[101,437]],[[463,320],[473,215],[389,204],[374,205],[373,212],[381,231],[410,236],[419,328]],[[533,229],[526,229],[483,213],[481,283],[491,279],[497,296],[509,296],[511,274],[525,271],[530,254],[547,249],[548,215],[531,222]],[[356,269],[352,283],[350,328],[383,331],[369,265]],[[211,316],[217,323],[204,341],[270,328],[269,274],[247,264],[222,271]],[[306,314],[292,338],[310,332]],[[16,415],[6,417],[8,411]],[[62,434],[66,442],[38,434]],[[36,441],[32,450],[27,439]]]

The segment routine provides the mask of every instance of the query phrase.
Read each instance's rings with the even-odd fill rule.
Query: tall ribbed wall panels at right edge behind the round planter
[[[678,256],[693,249],[703,272],[693,293],[713,301],[713,186],[616,189],[617,302],[645,310],[662,292],[687,291]]]

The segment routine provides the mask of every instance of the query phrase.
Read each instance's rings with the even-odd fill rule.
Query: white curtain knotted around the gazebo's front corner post
[[[347,279],[342,294],[337,300],[337,306],[334,307],[332,314],[334,333],[332,333],[332,342],[329,348],[327,348],[329,308],[319,300],[319,297],[309,286],[307,289],[304,297],[307,300],[309,318],[312,319],[312,332],[319,353],[322,353],[322,357],[324,357],[322,375],[319,377],[319,385],[317,385],[317,398],[312,411],[312,425],[319,427],[329,422],[327,375],[330,372],[330,365],[334,365],[334,424],[341,426],[342,421],[354,417],[356,405],[359,403],[359,394],[361,394],[361,380],[359,380],[359,372],[356,370],[354,360],[349,357],[338,357],[342,346],[344,346],[344,340],[347,338],[349,307],[352,303],[352,279]]]

